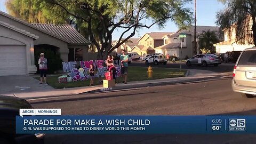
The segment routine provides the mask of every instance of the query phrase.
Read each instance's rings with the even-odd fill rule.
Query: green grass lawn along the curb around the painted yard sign
[[[147,77],[147,70],[146,67],[129,67],[128,68],[128,82],[132,81],[143,81],[143,80],[150,80],[150,79],[161,79],[161,78],[171,78],[171,77],[183,77],[185,76],[187,70],[183,69],[169,69],[169,68],[153,68],[153,78]],[[69,82],[66,84],[62,84],[58,82],[58,77],[56,76],[48,76],[47,77],[47,84],[51,85],[55,89],[62,89],[63,87],[80,87],[80,86],[89,86],[90,79],[85,81],[77,81],[77,82]],[[40,79],[37,77],[36,79]],[[99,81],[104,79],[103,77],[94,78],[94,84],[98,85]],[[120,83],[123,81],[122,77],[117,77],[117,82]]]

